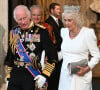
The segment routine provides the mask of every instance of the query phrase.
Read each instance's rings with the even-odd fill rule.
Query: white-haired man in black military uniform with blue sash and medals
[[[30,20],[26,6],[17,6],[13,14],[18,26],[10,31],[7,90],[43,88],[57,63],[57,52],[46,28]]]

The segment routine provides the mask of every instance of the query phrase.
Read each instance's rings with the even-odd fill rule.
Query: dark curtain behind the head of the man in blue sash
[[[32,5],[36,4],[36,0],[8,0],[8,28],[12,29],[16,25],[16,22],[13,19],[13,9],[17,5],[26,5],[30,8]]]

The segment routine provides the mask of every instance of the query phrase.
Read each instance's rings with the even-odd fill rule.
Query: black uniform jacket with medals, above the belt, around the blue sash
[[[52,41],[50,40],[49,33],[45,27],[40,25],[33,25],[31,28],[27,30],[22,30],[19,26],[16,26],[10,32],[13,32],[14,30],[18,31],[18,36],[20,37],[20,40],[31,59],[33,59],[34,56],[38,56],[40,60],[41,53],[43,50],[45,50],[48,63],[52,64],[57,62],[58,57],[56,49]],[[33,41],[31,41],[32,38],[34,38]],[[11,47],[10,43],[7,54],[7,59],[9,62],[8,66],[14,68],[16,67],[14,65],[14,60],[20,61],[21,57],[19,57],[16,49],[14,52],[12,52],[12,49],[14,48]]]

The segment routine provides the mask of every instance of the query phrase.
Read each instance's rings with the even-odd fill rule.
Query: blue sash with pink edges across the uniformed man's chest
[[[18,31],[19,31],[18,28],[13,30],[13,36],[15,34],[18,34]],[[16,45],[16,50],[18,52],[19,57],[21,57],[21,56],[24,57],[25,62],[32,62],[31,58],[27,54],[26,49],[24,48],[24,46],[20,40],[20,37],[18,37],[18,44]],[[33,77],[36,77],[37,75],[41,74],[41,72],[39,70],[34,69],[32,66],[27,66],[26,69],[32,74]]]

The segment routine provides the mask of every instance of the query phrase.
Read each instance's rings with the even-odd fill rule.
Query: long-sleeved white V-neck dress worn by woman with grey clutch
[[[69,62],[88,60],[89,52],[93,56],[88,61],[89,67],[92,69],[99,62],[100,52],[96,44],[97,39],[94,30],[83,27],[79,34],[74,39],[71,39],[68,28],[62,28],[61,37],[63,40],[61,45],[63,63],[58,90],[92,90],[91,70],[84,76],[70,75],[67,66]]]

